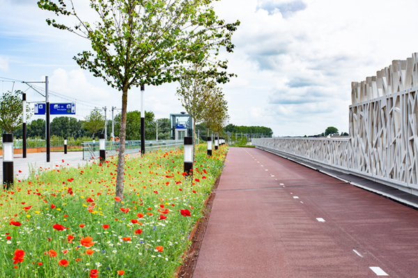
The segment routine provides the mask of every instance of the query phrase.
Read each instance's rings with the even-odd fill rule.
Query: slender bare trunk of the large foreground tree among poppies
[[[123,202],[123,178],[125,172],[125,137],[126,137],[126,113],[127,113],[127,86],[122,92],[121,128],[119,129],[119,154],[118,154],[118,175],[116,176],[116,197]],[[118,212],[121,202],[115,202],[115,212]]]

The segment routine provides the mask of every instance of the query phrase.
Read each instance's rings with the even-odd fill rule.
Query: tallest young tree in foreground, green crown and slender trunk
[[[40,0],[38,6],[56,15],[75,17],[73,27],[47,19],[56,28],[91,41],[92,51],[75,60],[93,76],[122,92],[121,149],[116,196],[123,199],[127,91],[132,86],[176,81],[185,65],[203,63],[219,82],[229,79],[226,61],[207,59],[220,47],[233,51],[231,35],[240,22],[226,24],[215,15],[214,0],[90,0],[98,22],[89,24],[76,13],[72,0]],[[70,9],[68,9],[69,4]],[[218,71],[218,68],[222,71]],[[120,205],[120,203],[115,203]]]

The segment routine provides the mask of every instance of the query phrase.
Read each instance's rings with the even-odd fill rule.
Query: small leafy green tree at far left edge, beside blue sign
[[[13,133],[23,123],[22,91],[5,92],[0,98],[0,128],[4,133]],[[26,106],[26,118],[31,116],[31,108]]]

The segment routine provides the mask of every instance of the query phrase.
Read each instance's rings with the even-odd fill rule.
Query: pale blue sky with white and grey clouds
[[[79,68],[72,58],[90,48],[88,41],[48,26],[45,19],[53,16],[36,2],[0,0],[1,93],[24,90],[28,101],[43,101],[19,81],[49,76],[50,102],[75,101],[79,119],[106,106],[110,119],[110,108],[121,108],[121,92]],[[89,18],[88,1],[74,2]],[[416,0],[221,0],[214,6],[226,22],[241,22],[234,52],[224,56],[228,71],[238,74],[221,86],[229,122],[268,126],[274,136],[309,136],[327,126],[348,132],[351,82],[418,51]],[[145,110],[156,118],[185,111],[177,87],[146,87]],[[140,95],[139,88],[130,90],[128,111],[140,111]]]

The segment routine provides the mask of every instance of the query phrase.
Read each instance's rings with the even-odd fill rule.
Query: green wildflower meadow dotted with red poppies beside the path
[[[226,152],[197,146],[193,177],[182,149],[127,156],[123,200],[117,157],[16,179],[0,193],[0,277],[173,277]]]

